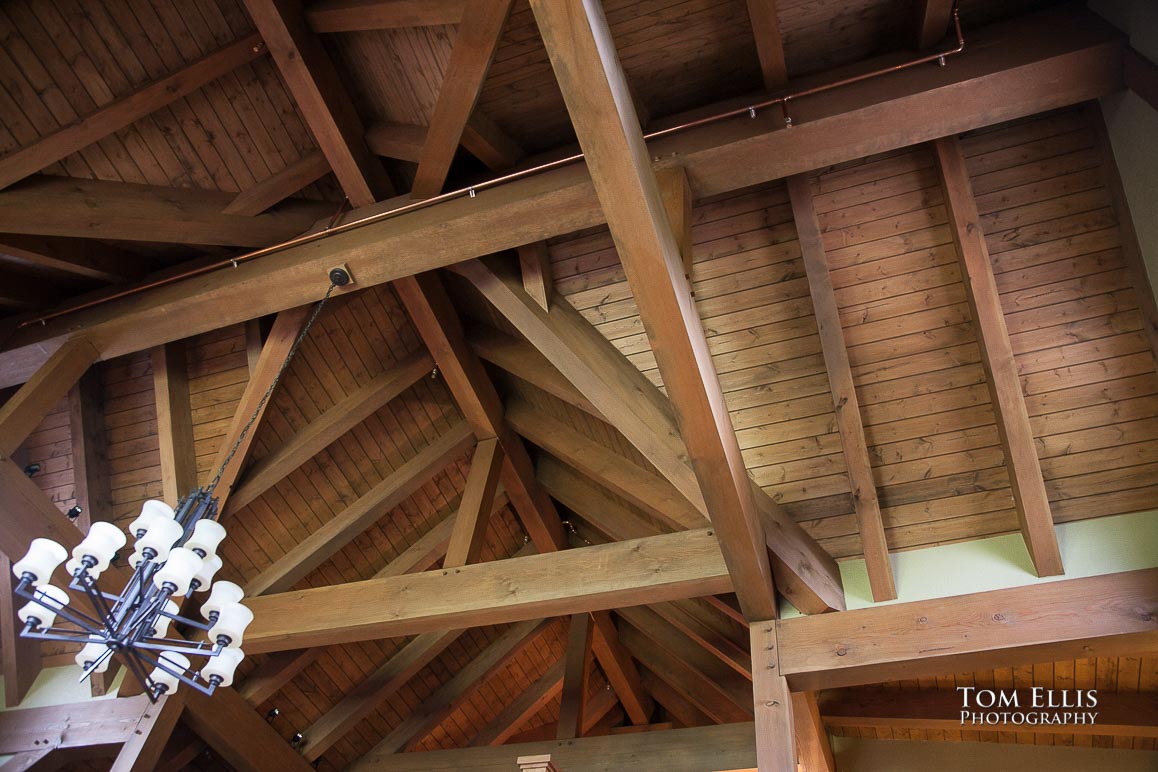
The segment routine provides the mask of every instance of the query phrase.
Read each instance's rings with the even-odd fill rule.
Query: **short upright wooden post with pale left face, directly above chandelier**
[[[152,352],[156,438],[161,454],[161,491],[170,506],[197,487],[193,416],[189,404],[189,368],[183,340]]]

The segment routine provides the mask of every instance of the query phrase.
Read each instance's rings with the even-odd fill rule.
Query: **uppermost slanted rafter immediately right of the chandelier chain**
[[[426,352],[416,352],[352,391],[310,421],[284,446],[254,463],[229,497],[229,512],[241,509],[269,491],[286,475],[413,385],[433,367],[434,361]]]

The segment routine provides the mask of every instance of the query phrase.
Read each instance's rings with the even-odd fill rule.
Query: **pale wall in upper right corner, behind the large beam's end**
[[[1158,2],[1090,0],[1092,10],[1130,36],[1130,45],[1158,63]],[[1109,141],[1129,199],[1138,243],[1158,294],[1158,111],[1126,91],[1101,101]]]

